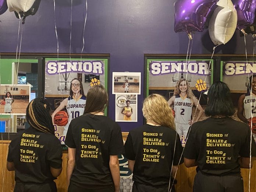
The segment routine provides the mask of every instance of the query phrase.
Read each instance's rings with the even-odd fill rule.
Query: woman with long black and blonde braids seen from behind
[[[54,179],[62,171],[62,148],[50,112],[44,99],[32,100],[26,109],[31,127],[19,131],[9,145],[7,170],[15,171],[14,192],[57,192]]]

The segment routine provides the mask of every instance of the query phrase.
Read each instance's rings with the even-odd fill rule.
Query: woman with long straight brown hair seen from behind
[[[84,115],[71,121],[65,139],[68,146],[68,192],[119,192],[118,155],[124,152],[119,125],[104,116],[106,89],[89,89]]]

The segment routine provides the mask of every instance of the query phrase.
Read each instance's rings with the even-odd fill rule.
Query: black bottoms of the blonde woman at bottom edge
[[[172,183],[170,184],[171,192],[175,192],[174,185],[173,187]],[[152,186],[152,185],[146,185],[146,184],[140,184],[138,182],[134,181],[134,184],[132,185],[132,192],[168,192],[169,186]],[[169,191],[170,191],[169,189]]]

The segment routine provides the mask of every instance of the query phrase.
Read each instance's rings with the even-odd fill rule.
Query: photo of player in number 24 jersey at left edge
[[[0,114],[26,115],[30,85],[0,85]]]

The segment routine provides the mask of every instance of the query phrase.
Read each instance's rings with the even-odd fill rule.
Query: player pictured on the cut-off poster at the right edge
[[[250,119],[256,117],[256,74],[249,78],[246,94],[243,94],[238,99],[237,117],[249,124]],[[249,125],[250,126],[250,125]],[[254,139],[256,134],[252,133]]]

